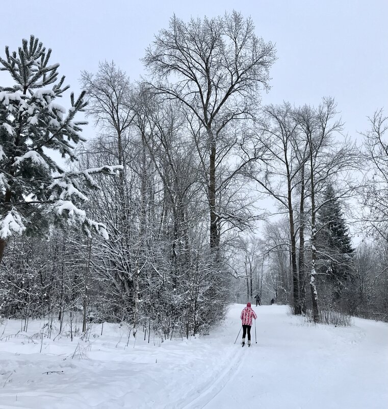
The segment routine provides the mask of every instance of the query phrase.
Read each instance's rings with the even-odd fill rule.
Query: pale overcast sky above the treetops
[[[264,102],[318,104],[331,95],[346,131],[368,127],[367,115],[388,107],[387,0],[1,1],[0,53],[30,34],[53,49],[52,62],[74,91],[81,70],[114,60],[135,81],[144,74],[144,49],[175,13],[187,21],[236,9],[250,15],[256,34],[276,43],[272,89]],[[5,84],[4,73],[0,83]],[[67,103],[63,101],[63,105]],[[87,131],[92,134],[93,130]]]

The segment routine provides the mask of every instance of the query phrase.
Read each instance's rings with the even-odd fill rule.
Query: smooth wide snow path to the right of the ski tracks
[[[231,327],[242,307],[231,308]],[[282,306],[254,310],[257,344],[253,335],[251,348],[240,347],[241,364],[224,387],[187,409],[388,407],[387,324],[355,319],[351,328],[313,326]]]

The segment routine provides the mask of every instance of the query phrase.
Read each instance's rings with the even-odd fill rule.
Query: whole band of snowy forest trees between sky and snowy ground
[[[61,329],[82,311],[82,331],[127,322],[166,339],[206,333],[243,292],[314,322],[388,320],[383,111],[358,146],[331,97],[263,105],[275,46],[237,12],[173,16],[142,80],[100,62],[68,110],[50,53],[32,36],[0,59],[15,82],[0,87],[2,317]]]

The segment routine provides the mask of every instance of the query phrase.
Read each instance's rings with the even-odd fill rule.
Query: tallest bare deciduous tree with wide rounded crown
[[[178,100],[197,119],[194,134],[201,140],[199,151],[205,162],[210,247],[218,249],[220,223],[225,217],[235,218],[217,208],[217,172],[231,149],[230,138],[225,145],[226,129],[255,115],[260,88],[268,89],[274,45],[258,38],[252,20],[237,12],[192,18],[189,23],[173,16],[169,29],[160,31],[143,61],[153,76],[152,89]]]

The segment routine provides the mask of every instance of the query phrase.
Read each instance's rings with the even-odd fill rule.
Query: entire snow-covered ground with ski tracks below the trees
[[[252,347],[241,348],[240,337],[234,341],[243,307],[232,305],[209,336],[148,344],[138,332],[128,346],[124,326],[105,324],[99,336],[101,326],[93,325],[89,341],[42,341],[29,338],[40,321],[26,334],[18,332],[19,321],[6,320],[0,408],[388,407],[388,324],[355,319],[351,328],[315,326],[286,306],[253,307],[257,344],[253,326]]]

